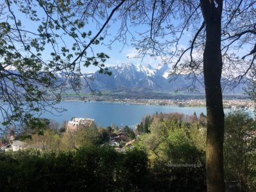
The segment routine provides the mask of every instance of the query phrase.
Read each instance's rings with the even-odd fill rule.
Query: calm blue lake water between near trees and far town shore
[[[63,101],[58,107],[65,108],[67,111],[59,115],[45,113],[42,117],[50,118],[59,124],[72,117],[93,118],[97,125],[107,127],[114,123],[115,125],[134,126],[141,122],[141,118],[145,115],[153,115],[154,113],[184,113],[186,115],[196,115],[200,113],[206,114],[204,107],[185,107],[178,106],[153,106],[141,104],[125,104],[125,103],[108,103],[108,102],[80,102],[80,101]],[[225,109],[225,113],[230,109]]]

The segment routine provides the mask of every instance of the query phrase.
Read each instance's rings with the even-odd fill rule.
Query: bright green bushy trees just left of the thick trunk
[[[202,163],[205,128],[182,122],[175,113],[157,114],[150,124],[150,133],[140,136],[137,147],[144,148],[152,161]]]

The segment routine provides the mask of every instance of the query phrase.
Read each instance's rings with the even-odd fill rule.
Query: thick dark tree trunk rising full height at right
[[[221,92],[221,11],[212,1],[201,1],[205,20],[204,83],[207,108],[207,191],[225,191],[223,172],[224,112]]]

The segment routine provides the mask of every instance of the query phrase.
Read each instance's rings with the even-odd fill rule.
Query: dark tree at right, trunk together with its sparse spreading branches
[[[227,85],[234,88],[248,75],[255,79],[256,33],[252,19],[255,18],[255,1],[139,0],[121,3],[124,4],[118,19],[122,22],[109,45],[117,40],[129,44],[127,36],[131,35],[137,53],[134,58],[144,58],[147,54],[161,58],[164,64],[172,65],[173,81],[177,74],[189,73],[193,83],[186,88],[191,90],[195,90],[196,81],[202,84],[197,77],[204,74],[207,190],[225,191],[222,90]],[[246,53],[242,53],[244,47],[248,47]],[[221,82],[222,72],[228,81]]]

